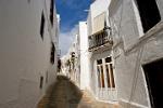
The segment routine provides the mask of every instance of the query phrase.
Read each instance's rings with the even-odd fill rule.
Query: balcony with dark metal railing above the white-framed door
[[[113,45],[113,39],[111,37],[111,29],[105,27],[103,30],[100,30],[88,37],[89,41],[89,51],[96,51],[102,48],[110,48]]]

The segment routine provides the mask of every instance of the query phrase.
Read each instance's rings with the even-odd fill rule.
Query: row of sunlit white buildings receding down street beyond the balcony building
[[[72,55],[73,54],[73,55]],[[72,56],[74,66],[72,63]],[[62,59],[62,73],[82,90],[90,89],[87,22],[79,22],[77,33]]]

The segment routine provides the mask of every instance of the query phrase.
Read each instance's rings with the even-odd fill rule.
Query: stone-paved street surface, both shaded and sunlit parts
[[[54,85],[49,89],[46,96],[39,102],[38,108],[118,108],[97,102],[87,91],[80,91],[67,78],[59,76]]]

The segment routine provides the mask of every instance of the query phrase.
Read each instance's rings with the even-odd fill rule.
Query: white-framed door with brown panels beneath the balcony
[[[97,60],[98,97],[104,100],[116,100],[112,57]]]

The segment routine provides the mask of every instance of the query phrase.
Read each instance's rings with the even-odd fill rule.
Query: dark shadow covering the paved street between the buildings
[[[83,92],[66,77],[58,76],[58,81],[49,87],[38,108],[77,108]]]

